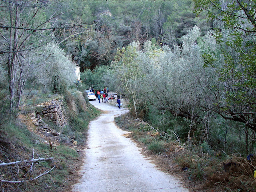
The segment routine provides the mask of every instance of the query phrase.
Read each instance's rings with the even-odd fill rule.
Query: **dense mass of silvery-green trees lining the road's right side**
[[[222,34],[229,32],[222,28]],[[239,88],[235,82],[233,86],[228,85],[231,80],[224,77],[232,76],[230,70],[234,69],[227,66],[225,61],[230,58],[227,50],[233,49],[230,47],[223,52],[222,44],[216,38],[218,35],[218,32],[208,32],[202,36],[200,28],[194,27],[182,36],[182,46],[159,48],[147,41],[139,50],[139,46],[132,43],[117,54],[112,64],[115,79],[124,82],[125,95],[135,100],[132,107],[135,114],[142,114],[144,119],[162,130],[176,131],[188,146],[206,142],[216,150],[223,148],[226,151],[228,148],[229,152],[252,152],[255,148],[255,95],[247,89],[255,89],[255,86],[248,83],[248,86]],[[126,52],[129,53],[128,57]],[[233,52],[236,54],[235,50]],[[237,76],[244,73],[240,69],[236,68]],[[249,80],[252,78],[250,76]],[[227,87],[230,89],[227,90]],[[131,92],[131,88],[135,89]],[[245,102],[232,101],[232,96],[239,92],[241,97],[243,93],[251,101],[252,107]],[[245,96],[248,94],[251,96]],[[234,110],[247,119],[238,119],[233,114]],[[173,122],[174,116],[181,117],[179,124]],[[182,126],[182,122],[185,126]],[[247,138],[246,146],[243,141],[236,140],[241,134],[242,140]],[[236,142],[237,145],[234,145]]]

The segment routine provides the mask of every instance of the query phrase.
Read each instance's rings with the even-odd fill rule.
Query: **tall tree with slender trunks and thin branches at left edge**
[[[59,22],[58,18],[67,12],[62,11],[63,3],[57,0],[0,0],[0,58],[8,71],[10,112],[20,106],[29,74],[44,64],[35,59],[36,54],[54,40],[55,30],[90,25],[71,26]]]

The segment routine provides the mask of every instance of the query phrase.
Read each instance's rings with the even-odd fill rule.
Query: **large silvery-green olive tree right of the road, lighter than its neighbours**
[[[201,57],[202,50],[216,49],[216,41],[211,34],[208,32],[202,37],[200,29],[194,27],[182,37],[182,46],[174,45],[172,48],[164,46],[159,49],[148,41],[139,56],[146,74],[141,82],[144,93],[148,94],[145,98],[158,109],[163,119],[164,114],[172,114],[186,120],[188,140],[192,129],[197,130],[199,124],[210,121],[209,117],[213,116],[202,106],[214,106],[222,95],[222,91],[212,93],[214,86],[221,88],[222,84],[212,69],[204,67]],[[207,126],[205,134],[209,134],[211,125]]]

